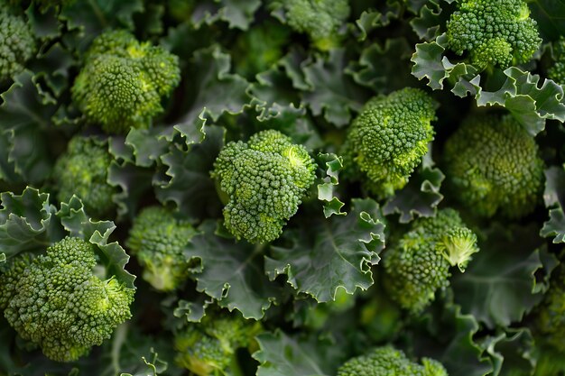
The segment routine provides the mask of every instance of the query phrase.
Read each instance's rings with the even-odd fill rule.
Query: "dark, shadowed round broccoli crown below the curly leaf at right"
[[[478,216],[517,218],[542,189],[538,146],[510,115],[468,118],[445,144],[445,171],[459,201]]]

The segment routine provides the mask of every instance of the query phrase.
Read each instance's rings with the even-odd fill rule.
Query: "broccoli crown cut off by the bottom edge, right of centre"
[[[421,363],[412,362],[401,350],[389,345],[349,359],[339,367],[338,376],[448,376],[438,361],[422,358]]]

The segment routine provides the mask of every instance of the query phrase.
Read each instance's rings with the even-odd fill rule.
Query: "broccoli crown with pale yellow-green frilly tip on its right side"
[[[384,285],[404,309],[419,313],[435,291],[449,286],[449,267],[464,271],[478,252],[477,235],[458,212],[447,208],[413,222],[411,229],[384,252]]]

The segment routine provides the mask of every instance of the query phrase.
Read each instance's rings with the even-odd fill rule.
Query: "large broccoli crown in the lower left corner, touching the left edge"
[[[66,237],[0,274],[0,304],[23,339],[54,361],[70,362],[102,344],[131,317],[134,289],[95,274],[94,245]]]

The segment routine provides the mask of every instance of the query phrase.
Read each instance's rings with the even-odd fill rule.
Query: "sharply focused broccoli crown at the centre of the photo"
[[[298,210],[316,178],[316,164],[302,145],[269,130],[249,142],[229,142],[214,163],[224,219],[237,239],[268,243]]]

